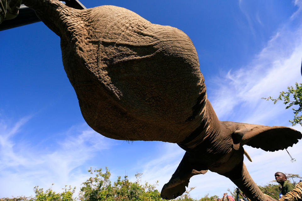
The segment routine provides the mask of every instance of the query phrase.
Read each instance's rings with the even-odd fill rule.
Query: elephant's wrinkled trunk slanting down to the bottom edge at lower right
[[[251,201],[266,201],[266,198],[270,198],[266,196],[261,190],[258,188],[257,184],[253,181],[252,177],[249,175],[248,170],[246,169],[244,163],[242,162],[237,167],[235,167],[232,171],[226,172],[222,174],[229,179],[245,193],[245,195]]]

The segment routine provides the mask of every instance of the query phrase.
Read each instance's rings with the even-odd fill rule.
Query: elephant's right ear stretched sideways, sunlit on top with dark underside
[[[285,126],[263,126],[237,122],[221,122],[232,132],[236,145],[249,145],[264,151],[283,150],[302,138],[299,131]]]

